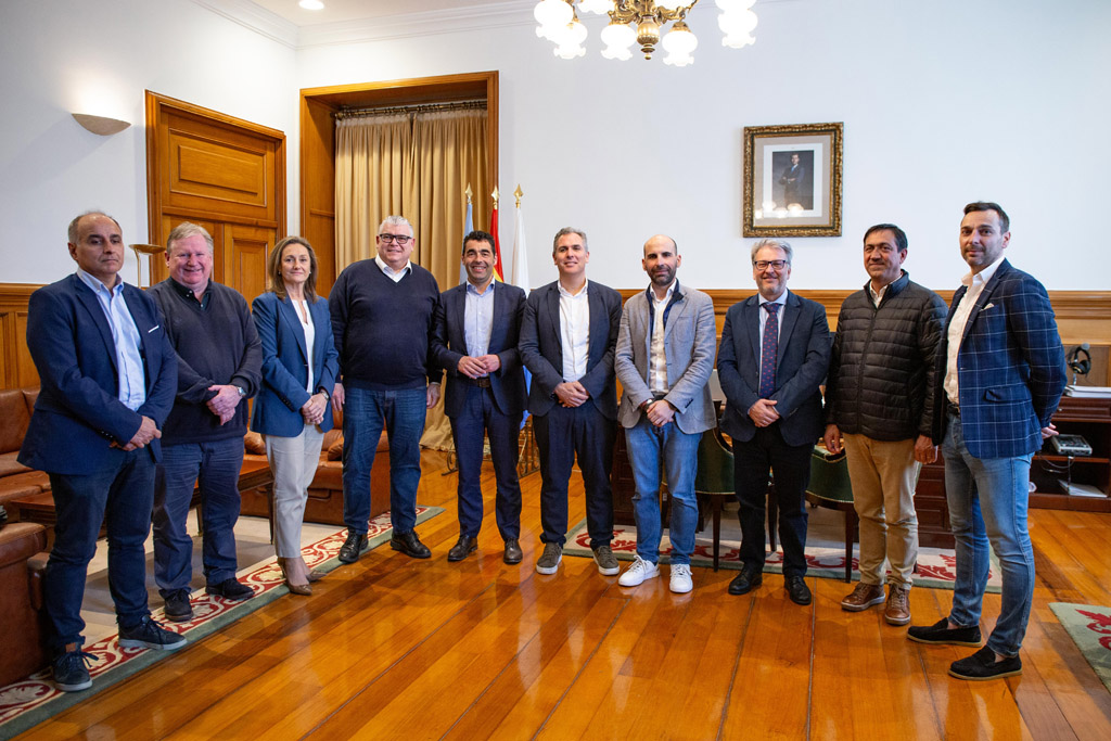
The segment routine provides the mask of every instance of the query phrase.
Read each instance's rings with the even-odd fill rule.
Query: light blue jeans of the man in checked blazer
[[[1034,552],[1027,525],[1030,455],[979,459],[969,454],[960,417],[950,414],[941,452],[945,457],[945,498],[957,540],[957,583],[949,619],[969,628],[980,623],[988,585],[988,543],[1003,572],[1003,600],[988,648],[1018,655],[1034,594]]]

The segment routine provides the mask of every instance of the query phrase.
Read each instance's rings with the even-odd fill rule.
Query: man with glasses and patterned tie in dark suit
[[[729,593],[745,594],[763,579],[771,473],[787,593],[797,604],[810,604],[803,498],[811,451],[824,429],[819,387],[829,368],[830,333],[825,308],[787,290],[791,257],[782,240],[752,247],[759,293],[730,307],[721,331],[718,378],[728,401],[721,428],[733,438],[743,562]]]

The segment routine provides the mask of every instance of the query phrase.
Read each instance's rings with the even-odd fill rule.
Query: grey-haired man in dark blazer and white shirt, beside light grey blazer
[[[613,495],[610,469],[617,435],[618,395],[613,349],[621,294],[587,281],[587,236],[556,232],[552,260],[559,280],[529,294],[521,322],[521,360],[532,373],[529,411],[540,453],[540,540],[537,571],[556,573],[567,542],[567,484],[575,455],[587,493],[587,530],[598,570],[620,570],[610,549]]]

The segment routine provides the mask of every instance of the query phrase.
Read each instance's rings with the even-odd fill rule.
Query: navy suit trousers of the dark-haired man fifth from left
[[[498,411],[493,392],[466,381],[467,399],[458,417],[451,420],[459,462],[459,534],[477,538],[482,528],[482,441],[490,438],[490,458],[498,482],[494,515],[502,540],[521,537],[521,484],[517,479],[518,440],[521,415],[509,417]]]

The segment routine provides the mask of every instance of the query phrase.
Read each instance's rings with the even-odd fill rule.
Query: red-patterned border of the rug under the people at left
[[[430,520],[443,512],[439,507],[417,507],[417,522]],[[370,521],[368,530],[371,549],[390,539],[390,513],[383,512]],[[340,565],[339,551],[347,539],[347,530],[340,530],[328,538],[318,540],[301,549],[306,563],[312,569],[331,571]],[[131,677],[156,661],[180,651],[222,629],[243,615],[254,612],[283,594],[289,593],[276,559],[256,563],[239,572],[239,579],[254,590],[254,597],[246,602],[231,602],[220,597],[198,590],[192,594],[193,619],[187,622],[163,621],[162,610],[152,610],[154,620],[169,630],[189,638],[189,645],[178,651],[151,651],[150,649],[123,649],[116,635],[87,643],[84,650],[97,657],[89,668],[92,688],[83,692],[61,692],[51,681],[50,669],[44,669],[21,682],[0,688],[0,739],[10,739],[27,729],[41,723],[79,702],[88,700],[97,692]]]

